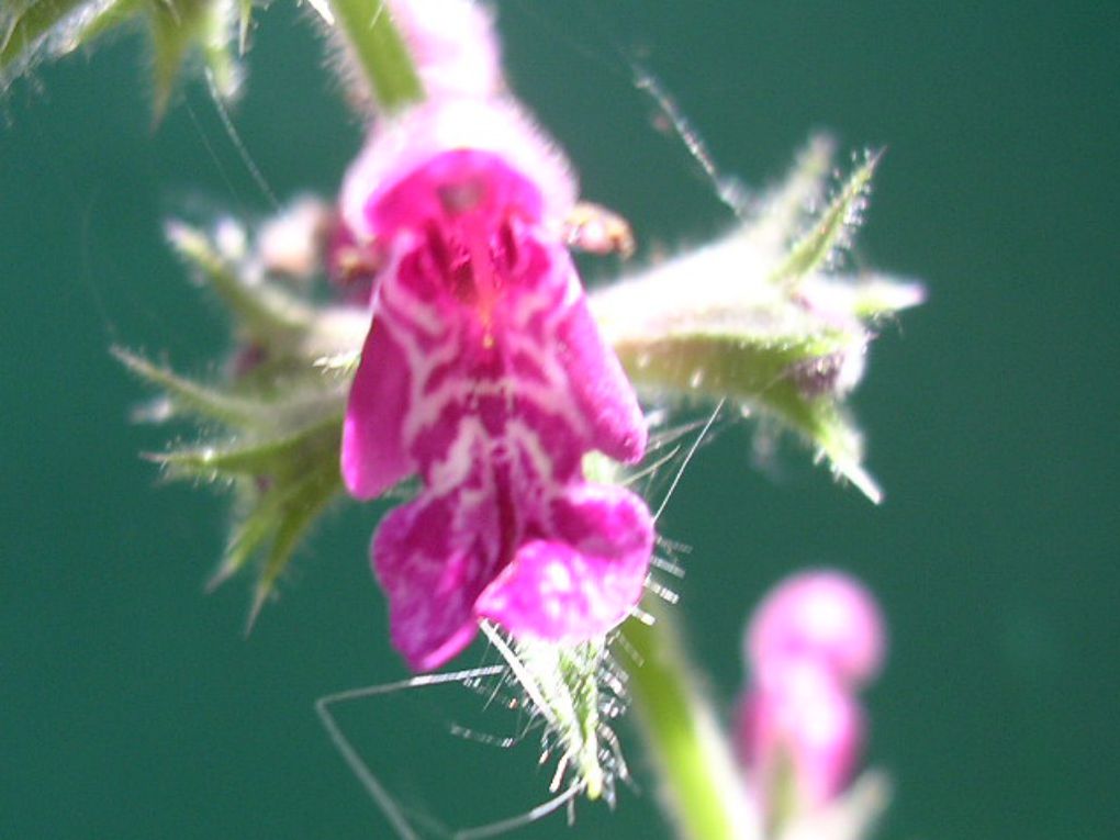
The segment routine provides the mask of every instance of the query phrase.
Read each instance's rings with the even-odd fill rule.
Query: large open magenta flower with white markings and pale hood
[[[582,457],[645,448],[560,239],[564,161],[511,105],[455,99],[380,128],[342,211],[384,267],[354,379],[342,470],[379,495],[419,474],[372,547],[393,643],[437,668],[480,618],[576,642],[620,622],[653,545],[645,504]]]

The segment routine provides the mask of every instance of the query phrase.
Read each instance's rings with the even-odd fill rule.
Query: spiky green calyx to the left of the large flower
[[[307,530],[342,495],[343,418],[368,314],[316,307],[260,277],[253,258],[222,250],[183,223],[170,223],[167,232],[230,311],[240,361],[215,386],[127,351],[114,353],[165,392],[160,410],[148,412],[152,419],[192,419],[199,429],[198,442],[149,457],[169,478],[233,488],[231,535],[211,586],[254,566],[252,626]]]

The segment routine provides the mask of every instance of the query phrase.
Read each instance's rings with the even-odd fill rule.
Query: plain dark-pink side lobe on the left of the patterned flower
[[[409,380],[404,352],[375,318],[343,423],[343,479],[357,498],[380,495],[414,469],[402,440]]]

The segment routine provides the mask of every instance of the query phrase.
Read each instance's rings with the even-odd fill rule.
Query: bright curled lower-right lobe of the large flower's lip
[[[622,487],[575,485],[552,505],[551,538],[529,540],[476,612],[515,636],[601,636],[642,597],[653,551],[645,504]]]

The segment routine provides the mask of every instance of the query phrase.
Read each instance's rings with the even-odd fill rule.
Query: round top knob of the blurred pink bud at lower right
[[[866,684],[886,648],[879,608],[870,592],[839,571],[787,578],[755,612],[745,655],[759,684],[784,679],[791,662],[812,661],[844,685]]]

